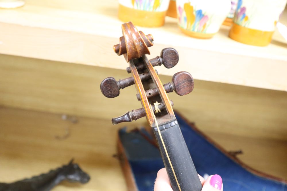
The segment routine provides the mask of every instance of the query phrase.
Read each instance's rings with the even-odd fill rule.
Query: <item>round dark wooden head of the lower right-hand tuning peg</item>
[[[178,95],[189,94],[194,87],[194,81],[188,72],[177,72],[172,77],[172,82],[174,84],[174,91]]]

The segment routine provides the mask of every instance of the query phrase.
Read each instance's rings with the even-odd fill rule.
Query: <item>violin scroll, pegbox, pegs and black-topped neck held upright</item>
[[[193,78],[188,72],[177,72],[172,82],[163,85],[154,67],[174,67],[179,61],[178,52],[174,48],[164,48],[160,56],[149,60],[146,54],[150,54],[148,47],[153,46],[152,35],[138,31],[131,22],[122,24],[122,33],[119,44],[113,48],[129,62],[127,73],[132,76],[121,80],[108,77],[102,81],[100,88],[105,97],[114,98],[119,96],[120,89],[135,84],[136,97],[142,108],[115,117],[112,123],[115,125],[146,117],[155,134],[172,189],[200,191],[201,182],[172,110],[173,102],[167,95],[173,91],[178,95],[189,94],[193,90]]]

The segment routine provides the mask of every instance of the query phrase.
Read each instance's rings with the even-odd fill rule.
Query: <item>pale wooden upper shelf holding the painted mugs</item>
[[[24,7],[0,10],[0,54],[125,69],[112,46],[119,42],[121,21],[116,0],[27,0]],[[287,24],[286,11],[281,22]],[[154,36],[152,55],[162,48],[179,51],[178,66],[160,74],[189,71],[195,79],[287,91],[287,42],[276,32],[267,47],[228,38],[222,26],[210,40],[182,34],[177,21],[166,18],[159,28],[138,29]]]

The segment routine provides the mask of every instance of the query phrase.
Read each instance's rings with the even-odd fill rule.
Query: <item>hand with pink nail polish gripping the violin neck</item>
[[[201,191],[223,191],[222,179],[219,175],[211,175],[206,180],[200,175],[198,176],[203,185]],[[156,182],[154,183],[154,191],[173,191],[165,168],[158,171]]]

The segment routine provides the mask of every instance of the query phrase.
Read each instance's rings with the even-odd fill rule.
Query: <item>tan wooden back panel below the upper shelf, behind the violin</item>
[[[103,119],[141,107],[134,86],[121,90],[117,98],[104,97],[100,82],[108,76],[118,80],[129,74],[124,70],[0,55],[0,105]],[[163,83],[171,80],[170,76],[160,77]],[[195,80],[191,94],[169,95],[174,109],[211,136],[226,133],[287,140],[287,92]],[[123,125],[145,123],[143,118]]]

